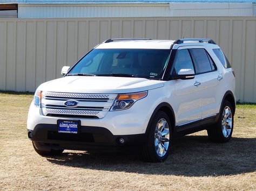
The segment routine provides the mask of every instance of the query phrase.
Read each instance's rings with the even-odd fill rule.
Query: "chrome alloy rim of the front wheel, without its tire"
[[[159,119],[154,131],[154,148],[156,148],[157,155],[163,157],[169,147],[170,131],[169,125],[164,118]]]

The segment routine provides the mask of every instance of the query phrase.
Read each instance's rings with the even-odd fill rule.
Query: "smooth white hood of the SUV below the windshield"
[[[136,77],[65,76],[45,82],[38,89],[65,93],[120,94],[156,89],[163,86],[163,81]]]

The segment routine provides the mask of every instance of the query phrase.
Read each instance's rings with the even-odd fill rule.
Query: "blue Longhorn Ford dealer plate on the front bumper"
[[[58,120],[57,121],[58,133],[78,134],[80,129],[79,120]]]

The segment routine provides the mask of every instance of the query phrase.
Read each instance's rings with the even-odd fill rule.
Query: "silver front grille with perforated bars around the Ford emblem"
[[[117,94],[80,94],[43,92],[42,111],[45,116],[55,115],[91,116],[90,118],[103,118],[109,111]],[[67,107],[67,100],[78,102],[77,107]]]

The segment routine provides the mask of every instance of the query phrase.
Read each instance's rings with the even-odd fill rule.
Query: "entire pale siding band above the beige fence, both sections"
[[[19,4],[18,18],[253,16],[252,3]]]

